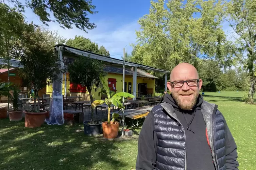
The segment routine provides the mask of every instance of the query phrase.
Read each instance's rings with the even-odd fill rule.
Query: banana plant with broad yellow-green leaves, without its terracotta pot
[[[134,95],[130,94],[130,93],[126,93],[126,92],[119,92],[119,93],[113,93],[112,91],[109,90],[108,85],[104,82],[104,78],[101,77],[101,82],[103,84],[102,87],[102,91],[104,91],[107,95],[107,98],[105,100],[96,100],[93,102],[93,105],[95,105],[94,107],[96,107],[97,105],[100,105],[102,103],[106,103],[108,105],[108,114],[107,114],[107,123],[110,124],[110,108],[111,108],[111,104],[118,106],[119,108],[124,108],[124,106],[121,103],[121,99],[122,97],[127,98],[134,98]],[[115,116],[116,118],[116,116]],[[114,122],[113,122],[114,123]]]

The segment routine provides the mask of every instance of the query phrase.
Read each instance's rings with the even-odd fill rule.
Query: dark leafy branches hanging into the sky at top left
[[[96,6],[92,5],[92,0],[66,0],[66,1],[47,1],[47,0],[26,0],[23,5],[19,0],[7,0],[8,4],[12,3],[15,7],[24,12],[24,7],[27,6],[39,17],[43,24],[48,25],[47,22],[58,22],[62,28],[72,29],[73,25],[87,33],[86,29],[96,28],[94,23],[90,23],[89,14],[96,14],[93,11]],[[0,0],[1,4],[5,1]],[[53,13],[53,20],[50,12]]]

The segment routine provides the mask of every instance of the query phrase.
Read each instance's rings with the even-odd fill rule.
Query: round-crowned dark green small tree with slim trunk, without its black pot
[[[74,63],[68,66],[69,79],[75,84],[80,84],[86,86],[90,95],[91,101],[91,123],[93,121],[93,97],[91,94],[92,89],[97,91],[98,88],[102,86],[101,77],[106,76],[106,72],[103,71],[103,61],[80,57],[78,60],[75,60]]]

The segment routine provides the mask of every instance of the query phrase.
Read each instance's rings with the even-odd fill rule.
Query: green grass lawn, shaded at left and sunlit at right
[[[205,92],[219,105],[238,146],[239,169],[256,167],[256,105],[243,103],[242,92]],[[138,135],[108,141],[88,137],[83,126],[29,129],[21,122],[0,120],[0,169],[135,169]]]

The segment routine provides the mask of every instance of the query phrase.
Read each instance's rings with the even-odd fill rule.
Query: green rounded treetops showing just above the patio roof
[[[98,46],[97,43],[92,42],[89,38],[85,38],[84,36],[75,36],[74,39],[70,38],[66,45],[79,48],[82,50],[90,51],[96,54],[100,54],[103,56],[110,56],[108,50],[104,46]]]

